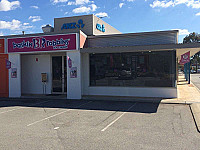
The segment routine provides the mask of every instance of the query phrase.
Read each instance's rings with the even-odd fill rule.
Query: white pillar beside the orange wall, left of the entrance
[[[17,78],[11,78],[11,70],[9,69],[9,97],[21,97],[21,62],[20,54],[9,54],[11,67],[17,69]]]

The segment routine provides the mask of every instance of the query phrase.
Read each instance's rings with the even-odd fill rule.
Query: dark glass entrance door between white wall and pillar
[[[67,93],[66,56],[52,56],[52,92]]]

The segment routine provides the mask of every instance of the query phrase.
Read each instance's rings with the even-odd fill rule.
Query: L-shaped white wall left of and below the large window
[[[177,97],[176,88],[143,87],[90,87],[89,54],[82,54],[82,95],[135,96],[135,97]]]

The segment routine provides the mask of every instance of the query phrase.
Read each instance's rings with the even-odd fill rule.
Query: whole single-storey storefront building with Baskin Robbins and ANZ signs
[[[2,36],[0,43],[0,97],[67,99],[177,97],[180,56],[200,47],[178,44],[177,30],[122,34],[94,15],[55,18],[44,33]]]

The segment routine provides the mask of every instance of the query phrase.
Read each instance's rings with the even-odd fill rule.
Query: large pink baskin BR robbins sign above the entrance
[[[8,52],[76,50],[76,34],[8,39]]]

